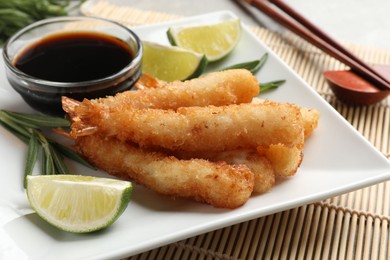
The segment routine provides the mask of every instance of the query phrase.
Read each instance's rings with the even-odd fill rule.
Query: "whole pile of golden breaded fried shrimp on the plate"
[[[165,83],[82,102],[63,97],[69,136],[92,164],[174,197],[236,208],[292,176],[317,110],[253,98],[246,70]]]

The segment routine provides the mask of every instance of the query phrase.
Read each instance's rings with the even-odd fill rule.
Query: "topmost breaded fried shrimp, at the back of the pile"
[[[249,71],[237,69],[214,72],[184,82],[174,81],[157,88],[125,91],[113,97],[85,100],[78,102],[78,105],[73,107],[73,112],[79,117],[91,117],[128,108],[175,110],[188,106],[224,106],[249,103],[258,93],[257,79]],[[64,97],[64,108],[68,102],[72,100]]]

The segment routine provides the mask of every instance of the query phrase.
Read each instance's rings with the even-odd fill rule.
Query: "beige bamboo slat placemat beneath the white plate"
[[[105,1],[85,15],[128,26],[180,16]],[[289,33],[250,28],[377,149],[390,159],[390,98],[364,107],[340,103],[322,77],[345,66]],[[369,63],[390,64],[390,50],[346,44]],[[390,181],[156,248],[129,259],[390,259]]]

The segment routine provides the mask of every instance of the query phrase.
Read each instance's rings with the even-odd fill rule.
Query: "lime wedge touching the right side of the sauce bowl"
[[[198,77],[206,68],[203,54],[179,47],[144,41],[142,71],[164,81],[186,80]]]

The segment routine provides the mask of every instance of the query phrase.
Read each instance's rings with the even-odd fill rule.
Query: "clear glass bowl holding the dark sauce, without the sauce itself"
[[[123,67],[118,68],[117,71],[109,72],[108,75],[76,81],[74,79],[72,81],[66,80],[66,72],[62,75],[65,79],[53,80],[31,75],[32,73],[22,71],[20,67],[16,66],[18,56],[21,56],[21,53],[26,54],[29,51],[34,51],[35,45],[47,38],[56,34],[77,33],[105,35],[115,39],[115,41],[120,41],[131,52],[132,58]],[[116,22],[95,17],[67,16],[41,20],[15,33],[3,46],[6,76],[11,86],[32,108],[50,115],[64,114],[61,105],[62,96],[76,100],[92,99],[114,95],[130,89],[141,76],[142,54],[141,40],[133,31]],[[98,62],[100,62],[99,55],[101,55],[100,52],[96,53],[95,57]],[[84,53],[79,56],[83,57]],[[59,59],[55,62],[61,63],[65,60],[67,59]],[[77,66],[78,62],[71,63],[71,66]],[[104,65],[103,59],[100,65]],[[50,67],[50,65],[48,66]]]

